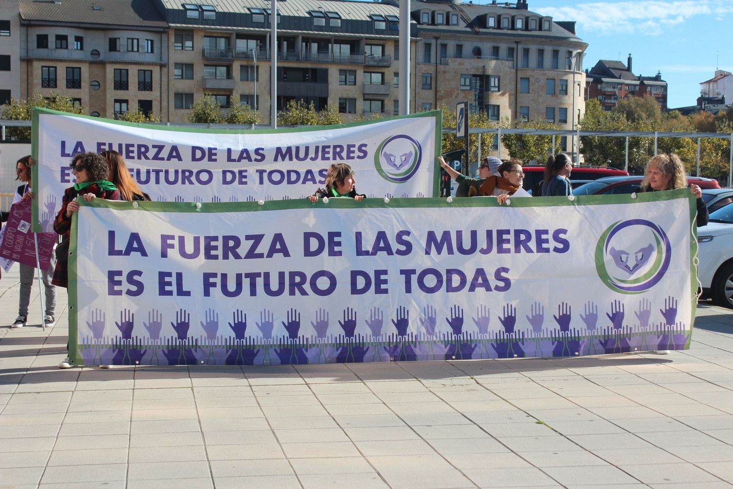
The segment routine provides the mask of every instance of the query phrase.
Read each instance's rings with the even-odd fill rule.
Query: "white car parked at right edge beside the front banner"
[[[710,213],[709,224],[697,228],[697,240],[703,296],[733,309],[733,205]]]

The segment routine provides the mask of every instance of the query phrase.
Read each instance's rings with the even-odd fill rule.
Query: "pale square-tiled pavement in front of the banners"
[[[733,488],[733,315],[575,359],[59,370],[0,280],[0,489]],[[37,287],[31,323],[40,323]]]

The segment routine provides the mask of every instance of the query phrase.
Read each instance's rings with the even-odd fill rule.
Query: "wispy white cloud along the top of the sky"
[[[723,18],[733,12],[733,4],[730,0],[597,1],[535,10],[552,16],[556,21],[577,21],[586,31],[656,35],[696,15]]]

